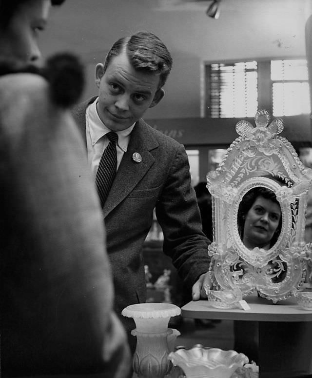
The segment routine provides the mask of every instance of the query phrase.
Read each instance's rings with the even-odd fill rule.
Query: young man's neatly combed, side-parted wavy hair
[[[140,31],[131,37],[123,37],[117,40],[106,56],[104,72],[112,58],[121,54],[124,50],[136,70],[159,75],[158,89],[165,84],[172,68],[172,57],[167,47],[155,34]]]

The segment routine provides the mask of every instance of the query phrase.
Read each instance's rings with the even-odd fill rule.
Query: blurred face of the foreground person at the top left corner
[[[38,34],[45,28],[50,0],[30,0],[13,15],[8,27],[0,31],[0,56],[23,62],[41,57]]]

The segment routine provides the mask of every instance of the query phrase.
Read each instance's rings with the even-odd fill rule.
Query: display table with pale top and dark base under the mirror
[[[181,315],[234,320],[234,350],[259,365],[261,378],[312,377],[312,311],[300,309],[295,298],[276,304],[256,294],[244,299],[250,310],[216,309],[199,300],[183,306]]]

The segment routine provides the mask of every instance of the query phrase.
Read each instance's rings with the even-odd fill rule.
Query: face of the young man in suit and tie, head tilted
[[[97,65],[96,84],[98,116],[113,131],[130,127],[164,93],[157,91],[159,75],[135,70],[124,51],[110,61],[105,73],[103,64]]]

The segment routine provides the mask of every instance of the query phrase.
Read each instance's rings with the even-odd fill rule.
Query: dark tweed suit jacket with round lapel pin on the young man
[[[85,141],[85,111],[95,99],[79,104],[73,113]],[[139,163],[132,159],[135,152],[142,157]],[[129,304],[146,300],[142,246],[154,208],[164,233],[164,253],[191,288],[208,271],[209,240],[201,230],[187,154],[183,145],[140,119],[103,207],[117,315]],[[123,322],[128,330],[134,327]]]

